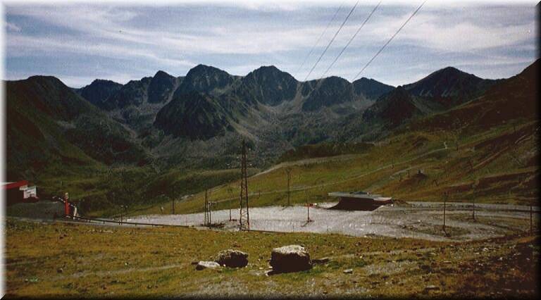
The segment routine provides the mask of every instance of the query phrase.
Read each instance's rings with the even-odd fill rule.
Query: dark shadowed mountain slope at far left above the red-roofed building
[[[6,82],[8,175],[62,164],[144,163],[120,124],[55,77]]]

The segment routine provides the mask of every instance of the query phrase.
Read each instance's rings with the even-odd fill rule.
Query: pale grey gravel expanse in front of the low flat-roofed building
[[[375,211],[328,210],[333,204],[320,204],[310,209],[312,222],[307,223],[306,206],[270,206],[250,209],[250,228],[276,232],[319,232],[354,236],[381,235],[386,237],[414,237],[430,240],[472,240],[499,237],[530,229],[529,206],[504,204],[476,204],[475,220],[471,204],[448,203],[446,232],[442,230],[442,203],[411,202],[404,206],[382,206]],[[534,207],[533,223],[537,224],[539,208]],[[238,219],[238,210],[232,218]],[[171,225],[201,225],[203,213],[188,215],[142,215],[132,222]],[[237,221],[229,221],[229,210],[214,211],[214,223],[225,223],[225,228],[237,229]]]

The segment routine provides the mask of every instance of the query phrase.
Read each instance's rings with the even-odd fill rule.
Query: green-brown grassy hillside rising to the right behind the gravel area
[[[532,203],[539,196],[537,64],[478,99],[402,125],[361,154],[299,161],[291,170],[292,203],[332,201],[328,192],[356,190],[413,201]],[[285,168],[248,181],[250,206],[287,203]],[[239,189],[238,181],[215,187],[216,209],[237,208]],[[203,200],[199,193],[180,201],[178,212],[203,211]]]

